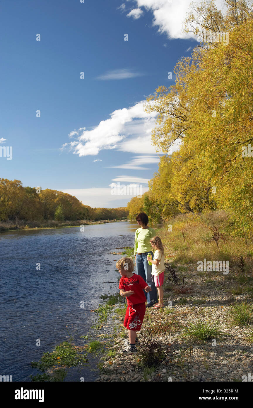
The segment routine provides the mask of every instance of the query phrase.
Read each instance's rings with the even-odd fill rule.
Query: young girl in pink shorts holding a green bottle
[[[153,264],[151,274],[153,275],[153,280],[155,281],[159,296],[159,302],[153,307],[153,309],[159,309],[164,307],[164,246],[161,242],[161,238],[157,236],[150,239],[150,244],[152,248],[155,249],[154,259],[152,260],[152,257],[148,256],[147,259]]]

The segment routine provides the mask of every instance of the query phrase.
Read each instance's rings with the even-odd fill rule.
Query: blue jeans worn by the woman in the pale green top
[[[148,253],[152,254],[152,259],[154,257],[153,253],[151,251],[148,252],[144,252],[140,255],[136,255],[136,272],[137,275],[140,275],[145,282],[147,282],[148,286],[151,286],[151,291],[145,293],[146,299],[148,303],[155,303],[157,302],[157,291],[156,291],[156,287],[155,287],[155,282],[152,279],[152,265],[148,265],[148,260],[147,260],[147,255]]]

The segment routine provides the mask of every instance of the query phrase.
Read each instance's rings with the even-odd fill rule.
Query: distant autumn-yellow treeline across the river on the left
[[[20,180],[0,178],[0,221],[114,220],[127,217],[125,207],[92,208],[61,191],[24,187]]]

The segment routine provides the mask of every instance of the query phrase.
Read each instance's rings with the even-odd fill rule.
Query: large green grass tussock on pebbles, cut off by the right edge
[[[236,302],[227,313],[231,320],[231,326],[246,326],[253,322],[253,303],[248,302],[248,300]]]

